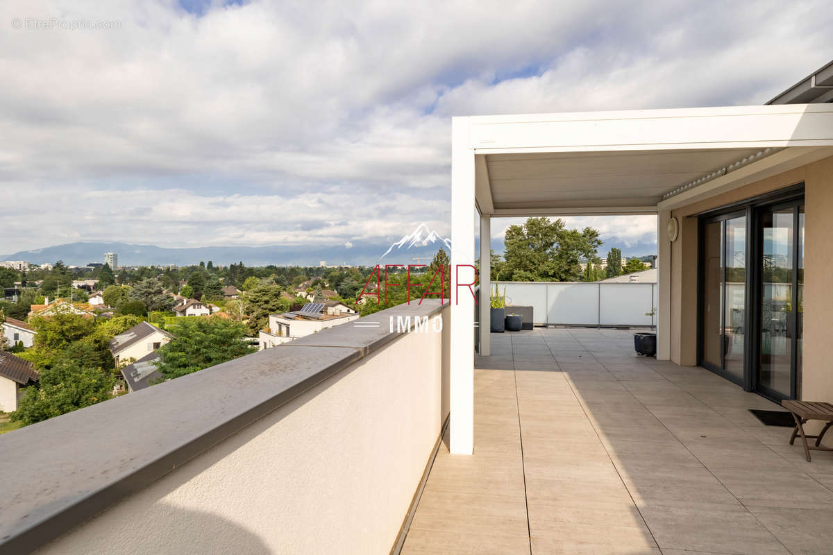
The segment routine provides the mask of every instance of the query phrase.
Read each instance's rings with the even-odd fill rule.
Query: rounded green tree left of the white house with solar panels
[[[165,379],[178,378],[253,353],[244,343],[246,328],[220,318],[189,318],[177,325],[177,337],[162,345],[159,371]]]

